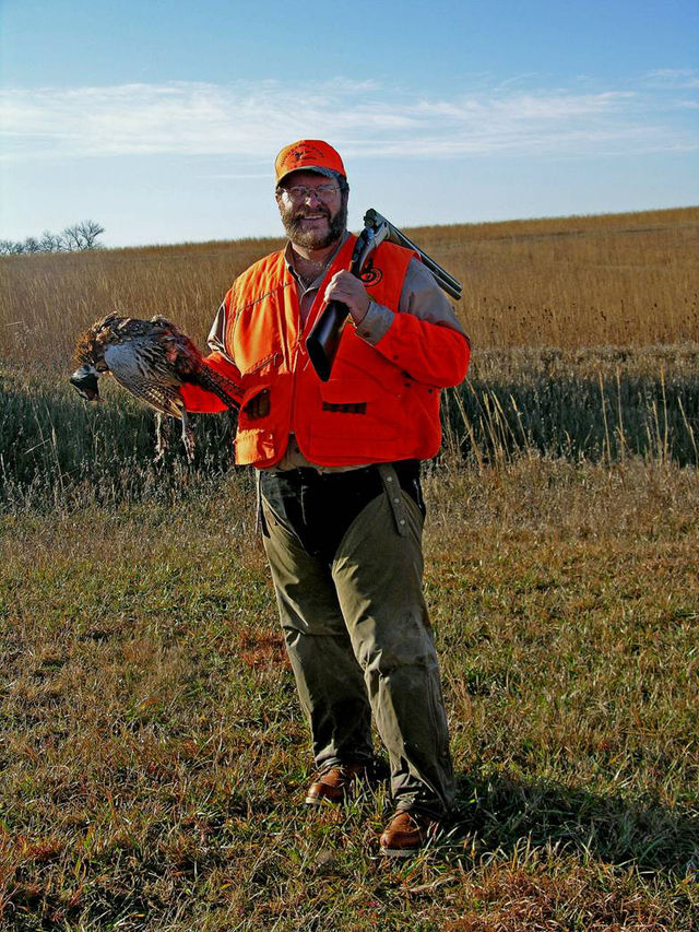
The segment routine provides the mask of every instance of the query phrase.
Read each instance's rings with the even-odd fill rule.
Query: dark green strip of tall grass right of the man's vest
[[[519,456],[697,467],[698,371],[697,344],[490,351],[446,396],[445,456],[479,467]]]

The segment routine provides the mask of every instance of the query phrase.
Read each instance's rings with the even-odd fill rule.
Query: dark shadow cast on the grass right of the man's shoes
[[[699,812],[657,799],[625,799],[546,780],[461,775],[453,837],[475,836],[481,853],[513,852],[522,839],[641,871],[697,870]]]

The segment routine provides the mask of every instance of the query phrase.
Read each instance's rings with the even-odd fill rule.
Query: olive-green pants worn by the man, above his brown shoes
[[[442,813],[453,804],[454,780],[422,587],[423,514],[393,467],[371,469],[378,495],[352,520],[332,559],[301,543],[298,519],[282,514],[282,497],[270,494],[271,504],[265,485],[274,489],[274,479],[264,476],[264,548],[317,765],[369,762],[374,713],[398,809]],[[356,486],[347,475],[323,476],[320,489],[299,486],[301,498],[324,496],[321,522],[333,520],[333,495],[343,495],[347,482]]]

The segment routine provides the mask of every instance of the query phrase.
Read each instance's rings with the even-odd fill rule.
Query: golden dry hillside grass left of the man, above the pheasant
[[[234,278],[277,245],[250,239],[9,257],[0,262],[0,358],[66,371],[78,334],[111,312],[163,314],[204,346]]]

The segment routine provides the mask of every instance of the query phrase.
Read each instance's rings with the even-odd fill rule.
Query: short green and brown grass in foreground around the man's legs
[[[300,804],[247,472],[2,519],[7,928],[697,928],[696,472],[530,457],[426,486],[462,823],[402,864],[384,786]]]

